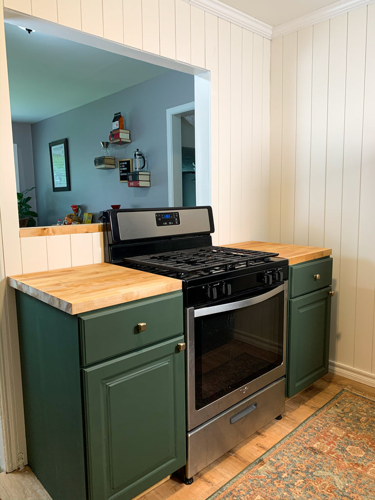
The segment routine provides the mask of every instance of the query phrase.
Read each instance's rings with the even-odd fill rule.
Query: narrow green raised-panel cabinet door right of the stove
[[[289,301],[287,397],[328,372],[330,291],[327,286]]]

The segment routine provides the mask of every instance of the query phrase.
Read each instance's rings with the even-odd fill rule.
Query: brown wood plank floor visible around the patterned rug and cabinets
[[[140,497],[140,500],[204,500],[222,484],[240,472],[258,456],[267,451],[282,437],[291,432],[303,420],[342,388],[352,387],[375,396],[375,388],[363,385],[332,373],[317,380],[307,389],[286,401],[285,414],[281,420],[273,420],[250,437],[242,441],[216,461],[194,476],[194,482],[184,484],[172,476],[156,488]],[[67,479],[68,480],[68,479]],[[42,488],[28,467],[10,474],[0,474],[1,500],[49,500],[50,496]],[[83,500],[77,498],[77,500]]]

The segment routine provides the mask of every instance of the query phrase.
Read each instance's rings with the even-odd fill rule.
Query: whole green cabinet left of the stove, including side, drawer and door
[[[181,292],[16,301],[28,464],[53,500],[129,500],[185,464]]]

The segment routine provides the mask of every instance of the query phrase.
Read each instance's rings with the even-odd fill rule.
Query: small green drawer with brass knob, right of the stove
[[[314,276],[319,276],[317,279]],[[332,258],[309,260],[289,266],[290,297],[316,291],[332,283]]]

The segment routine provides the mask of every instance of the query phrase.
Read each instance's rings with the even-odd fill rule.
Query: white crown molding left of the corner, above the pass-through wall
[[[183,0],[190,5],[194,5],[195,7],[201,8],[210,14],[217,15],[221,19],[225,19],[233,24],[237,24],[242,28],[249,29],[254,33],[260,34],[264,36],[264,38],[271,39],[272,35],[272,26],[270,24],[266,24],[259,19],[255,19],[255,17],[251,17],[251,15],[245,14],[236,8],[230,7],[225,3],[222,3],[218,0]]]

